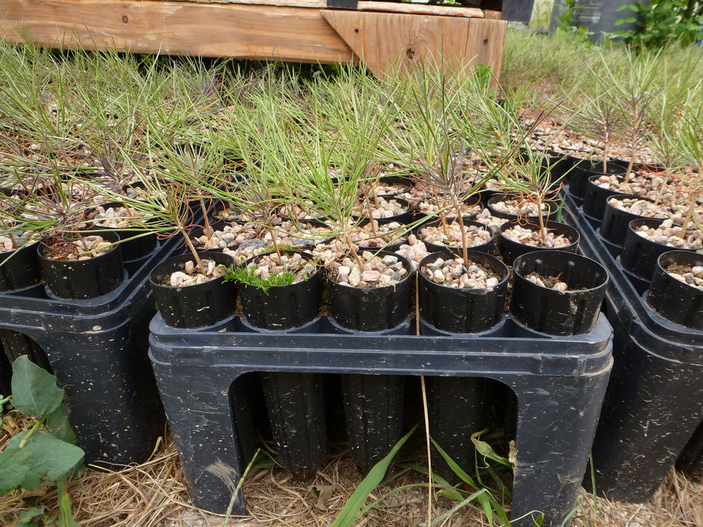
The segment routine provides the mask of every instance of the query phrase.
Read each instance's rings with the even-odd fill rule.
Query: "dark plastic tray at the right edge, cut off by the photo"
[[[605,311],[615,363],[593,444],[596,488],[614,500],[644,502],[703,422],[703,332],[652,310],[647,282],[621,268],[617,247],[603,242],[599,223],[583,216],[568,192],[566,204],[581,252],[611,277]]]

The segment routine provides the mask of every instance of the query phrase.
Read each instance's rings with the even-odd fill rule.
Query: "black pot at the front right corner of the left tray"
[[[90,233],[82,235],[88,236]],[[100,235],[106,242],[120,242],[117,233],[104,232]],[[37,254],[44,271],[46,290],[57,298],[82,300],[101,297],[117,289],[124,280],[120,245],[114,245],[108,252],[94,258],[64,261],[46,258],[44,253],[47,246],[44,243],[39,242]]]

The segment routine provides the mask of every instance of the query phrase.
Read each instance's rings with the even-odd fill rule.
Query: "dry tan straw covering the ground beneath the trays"
[[[6,415],[0,450],[8,431],[17,430],[13,413]],[[82,527],[222,527],[222,526],[329,526],[361,482],[361,475],[346,445],[336,447],[325,459],[311,483],[292,480],[288,473],[271,464],[252,471],[244,483],[248,516],[207,514],[191,505],[183,469],[171,436],[160,441],[148,462],[107,470],[90,466],[70,489],[75,519]],[[333,447],[333,448],[334,448]],[[407,454],[406,462],[425,463],[422,448]],[[402,460],[401,460],[402,461]],[[426,476],[408,471],[392,487],[378,488],[370,501],[391,488],[426,483]],[[36,505],[56,507],[56,490],[44,497],[32,494],[6,495],[0,498],[0,524],[11,526],[22,510]],[[676,471],[666,478],[654,499],[646,505],[630,505],[598,499],[581,491],[579,510],[574,515],[576,527],[699,527],[703,525],[703,484],[695,483]],[[450,509],[453,502],[437,497],[434,516]],[[407,488],[392,495],[363,516],[358,526],[423,526],[427,522],[427,490],[423,486]],[[488,526],[484,516],[463,509],[441,523],[444,527]]]

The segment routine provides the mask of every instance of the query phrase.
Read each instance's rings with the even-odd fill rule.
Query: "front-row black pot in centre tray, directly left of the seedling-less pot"
[[[433,282],[422,272],[424,266],[437,261],[456,258],[451,251],[435,252],[420,262],[418,292],[420,316],[451,333],[481,333],[494,327],[502,318],[505,295],[508,292],[510,272],[505,263],[490,254],[469,251],[469,259],[498,274],[498,285],[492,289],[459,289]]]

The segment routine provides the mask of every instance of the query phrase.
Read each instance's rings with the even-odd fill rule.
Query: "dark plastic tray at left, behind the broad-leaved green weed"
[[[174,251],[172,238],[131,263],[102,297],[62,300],[43,284],[0,294],[5,358],[27,354],[53,370],[86,461],[143,462],[165,424],[150,368],[148,325],[156,311],[148,273]]]

